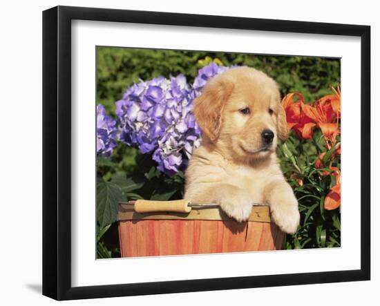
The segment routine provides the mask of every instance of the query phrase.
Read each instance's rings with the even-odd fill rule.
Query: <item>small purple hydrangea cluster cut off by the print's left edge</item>
[[[97,154],[101,156],[111,156],[113,148],[116,146],[116,121],[112,117],[106,115],[106,110],[101,104],[96,106],[96,115]]]

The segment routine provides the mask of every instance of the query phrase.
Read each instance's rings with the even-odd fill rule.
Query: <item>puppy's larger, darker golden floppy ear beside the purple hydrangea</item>
[[[207,83],[202,94],[194,100],[194,116],[202,133],[211,141],[215,141],[219,137],[222,112],[233,88],[233,83],[216,77]]]

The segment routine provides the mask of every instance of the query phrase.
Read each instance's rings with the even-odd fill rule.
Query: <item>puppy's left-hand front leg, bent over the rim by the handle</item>
[[[234,218],[238,222],[248,220],[251,215],[253,201],[249,193],[231,184],[220,184],[215,187],[209,187],[197,195],[188,193],[187,195],[185,194],[185,198],[186,196],[191,202],[218,203],[227,216]]]

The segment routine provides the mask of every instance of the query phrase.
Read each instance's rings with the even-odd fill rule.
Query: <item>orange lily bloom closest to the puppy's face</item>
[[[294,96],[299,98],[298,101],[294,102]],[[305,104],[303,95],[301,93],[289,93],[283,98],[282,104],[289,130],[292,129],[298,138],[311,139],[312,128],[316,124],[304,111],[307,104]]]

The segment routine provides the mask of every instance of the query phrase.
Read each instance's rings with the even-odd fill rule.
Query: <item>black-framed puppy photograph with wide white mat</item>
[[[370,280],[370,26],[43,14],[43,294]]]

